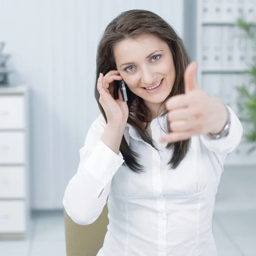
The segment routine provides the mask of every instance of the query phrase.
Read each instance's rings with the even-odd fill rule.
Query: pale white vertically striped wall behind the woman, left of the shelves
[[[0,0],[0,41],[14,84],[31,93],[32,207],[62,208],[79,148],[99,111],[93,96],[96,46],[120,12],[149,9],[183,37],[183,0]]]

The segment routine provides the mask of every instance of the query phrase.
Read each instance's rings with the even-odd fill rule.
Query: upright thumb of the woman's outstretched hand
[[[185,82],[185,93],[189,93],[198,88],[196,82],[196,72],[198,64],[196,62],[191,62],[185,70],[184,82]]]

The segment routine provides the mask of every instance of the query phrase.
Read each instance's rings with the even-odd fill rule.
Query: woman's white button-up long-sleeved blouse
[[[212,235],[215,194],[225,157],[239,145],[243,133],[236,114],[227,108],[228,136],[219,140],[193,136],[176,169],[168,169],[172,151],[165,148],[167,143],[158,142],[167,115],[150,125],[159,151],[127,124],[125,140],[141,154],[142,173],[123,166],[120,151],[115,154],[100,140],[106,126],[103,116],[93,122],[63,204],[73,221],[87,225],[99,217],[108,198],[108,231],[97,256],[217,255]]]

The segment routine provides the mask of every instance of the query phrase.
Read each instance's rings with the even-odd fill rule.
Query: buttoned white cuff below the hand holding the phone
[[[97,180],[107,184],[113,175],[125,162],[121,152],[116,154],[101,140],[98,141],[90,157],[82,163],[82,167],[90,172]]]

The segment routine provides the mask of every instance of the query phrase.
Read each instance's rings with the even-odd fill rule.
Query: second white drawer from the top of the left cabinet
[[[25,163],[25,133],[0,132],[0,163]]]

